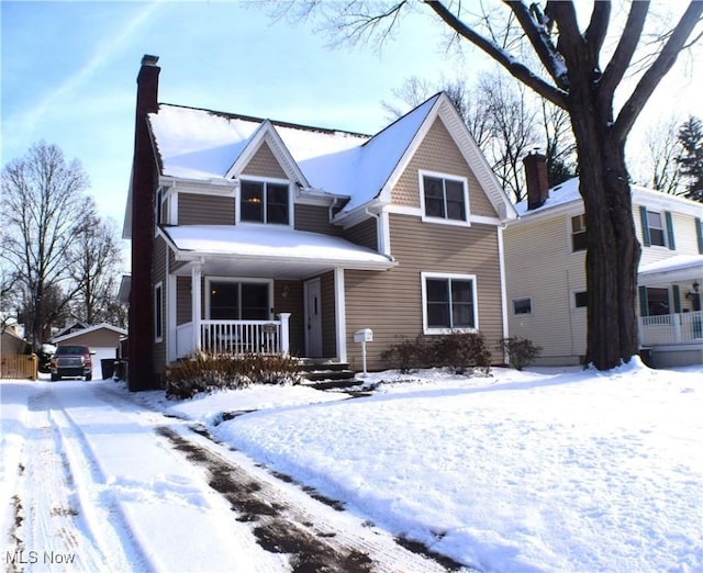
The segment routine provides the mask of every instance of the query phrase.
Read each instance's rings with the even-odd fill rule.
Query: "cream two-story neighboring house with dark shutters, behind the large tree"
[[[542,177],[527,180],[545,182],[543,156],[528,157],[525,168]],[[510,333],[542,346],[543,364],[578,364],[585,355],[587,228],[578,187],[578,179],[528,187],[532,199],[516,205],[520,218],[504,234]],[[643,355],[658,367],[703,363],[703,204],[638,186],[632,198],[643,246]]]

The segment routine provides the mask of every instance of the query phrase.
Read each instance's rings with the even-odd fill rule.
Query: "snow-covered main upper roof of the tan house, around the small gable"
[[[314,190],[349,198],[344,211],[379,195],[442,98],[437,93],[375,136],[308,127],[209,110],[160,104],[149,114],[161,175],[217,181],[264,128],[282,142],[306,183]]]

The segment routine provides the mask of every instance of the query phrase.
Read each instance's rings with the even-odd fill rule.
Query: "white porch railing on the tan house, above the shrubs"
[[[278,317],[278,321],[200,321],[198,338],[192,323],[182,324],[176,329],[178,357],[196,350],[217,355],[286,355],[290,351],[290,313]]]

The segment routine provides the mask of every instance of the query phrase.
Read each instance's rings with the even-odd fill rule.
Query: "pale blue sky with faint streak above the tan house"
[[[120,225],[144,54],[160,58],[161,102],[361,133],[388,123],[381,102],[392,101],[408,77],[471,78],[489,66],[481,55],[447,56],[442,24],[422,7],[380,53],[327,47],[312,24],[276,22],[260,3],[2,1],[0,8],[2,165],[38,141],[58,145],[67,159],[80,159],[101,213]],[[672,108],[703,115],[699,69],[678,64],[677,78],[649,106],[654,115]]]

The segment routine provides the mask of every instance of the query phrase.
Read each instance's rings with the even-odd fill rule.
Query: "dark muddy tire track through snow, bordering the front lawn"
[[[252,526],[264,549],[288,554],[295,573],[469,571],[448,558],[443,563],[427,559],[372,524],[314,499],[265,469],[236,464],[219,445],[182,426],[177,429],[161,426],[157,432],[208,470],[211,487],[230,502],[237,520]]]

